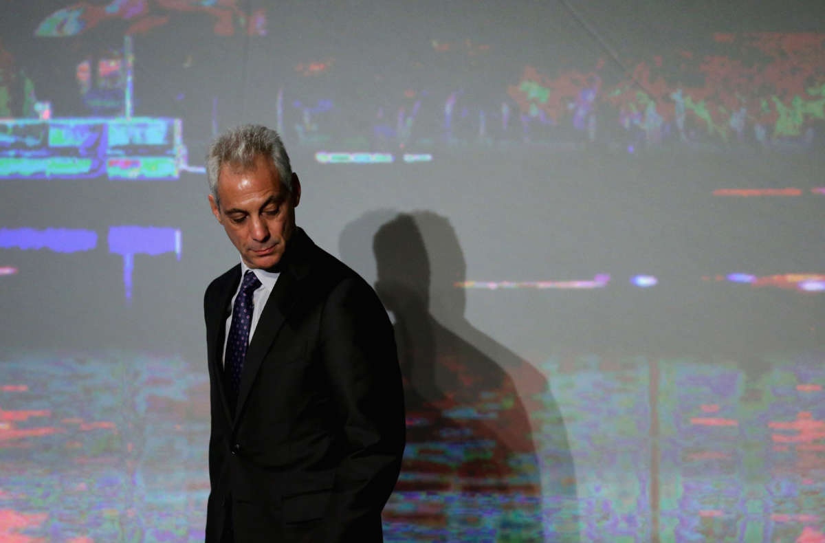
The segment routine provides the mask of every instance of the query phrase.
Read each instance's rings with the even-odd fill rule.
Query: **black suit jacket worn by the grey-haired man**
[[[207,543],[382,541],[404,447],[392,325],[375,291],[301,229],[249,343],[237,406],[222,353],[240,265],[206,289]],[[231,506],[231,507],[228,507]]]

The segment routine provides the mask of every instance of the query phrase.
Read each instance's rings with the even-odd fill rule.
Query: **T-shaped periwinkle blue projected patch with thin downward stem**
[[[123,286],[126,302],[132,301],[132,272],[134,255],[157,256],[175,253],[181,260],[181,230],[154,226],[111,226],[109,228],[109,253],[123,257]]]

